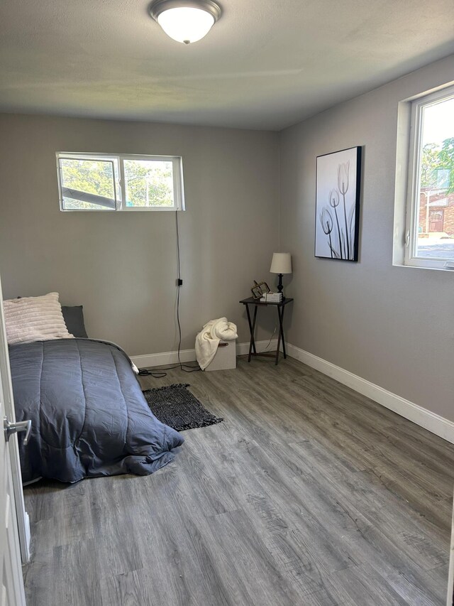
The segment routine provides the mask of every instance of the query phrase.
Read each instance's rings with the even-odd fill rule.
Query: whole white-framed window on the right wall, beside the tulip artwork
[[[454,87],[411,101],[406,265],[454,267]]]

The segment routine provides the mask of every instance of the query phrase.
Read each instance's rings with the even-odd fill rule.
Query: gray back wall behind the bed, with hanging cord
[[[276,133],[7,114],[0,133],[5,298],[58,291],[62,303],[84,304],[89,335],[130,355],[175,350],[175,213],[60,212],[55,152],[178,155],[182,347],[221,315],[248,340],[238,301],[253,278],[270,277],[277,246]]]

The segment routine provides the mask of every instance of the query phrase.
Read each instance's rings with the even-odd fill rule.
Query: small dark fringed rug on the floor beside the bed
[[[207,411],[187,387],[189,383],[157,387],[146,389],[143,395],[152,413],[177,431],[221,423],[223,418]]]

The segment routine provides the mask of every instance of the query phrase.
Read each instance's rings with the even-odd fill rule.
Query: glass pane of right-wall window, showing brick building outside
[[[423,107],[416,256],[454,259],[454,98]]]

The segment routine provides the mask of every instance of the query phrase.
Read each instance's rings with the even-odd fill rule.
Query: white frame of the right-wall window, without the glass
[[[442,99],[448,100],[453,97],[454,86],[449,86],[444,87],[437,92],[424,94],[418,99],[411,101],[404,265],[431,269],[451,269],[449,265],[454,266],[454,260],[451,259],[427,259],[426,257],[418,256],[416,254],[419,226],[419,200],[421,197],[419,183],[423,109],[440,102]]]

